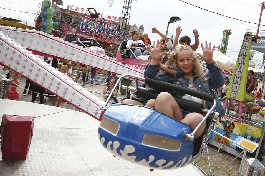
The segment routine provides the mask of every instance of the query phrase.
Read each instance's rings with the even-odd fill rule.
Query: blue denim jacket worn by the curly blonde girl
[[[221,102],[219,101],[219,99],[217,98],[216,94],[213,92],[212,89],[223,86],[224,84],[223,75],[221,73],[220,68],[217,66],[217,64],[214,61],[211,64],[207,64],[207,67],[208,68],[205,69],[206,72],[203,74],[203,80],[201,80],[200,77],[194,77],[193,84],[195,84],[195,86],[201,92],[205,92],[215,96],[216,107],[214,110],[219,113],[219,118],[221,118],[226,111],[225,109],[223,109]],[[183,72],[180,70],[180,68],[176,70],[178,70],[178,72],[173,75],[164,73],[164,75],[160,74],[160,77],[156,77],[155,75],[157,73],[157,65],[148,65],[148,68],[145,70],[144,73],[145,77],[169,82],[183,87],[189,87],[189,79],[183,77]],[[159,89],[159,87],[153,87],[153,88]],[[185,94],[175,94],[174,96],[181,98],[184,95]],[[211,107],[213,103],[208,102],[208,105]]]

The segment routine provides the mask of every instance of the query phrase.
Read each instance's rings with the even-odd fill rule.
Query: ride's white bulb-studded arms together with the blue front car
[[[120,147],[124,145],[123,146],[124,148],[122,147],[122,150],[124,150],[125,153],[122,154],[118,152],[117,156],[120,156],[122,158],[125,158],[126,160],[130,160],[132,162],[141,165],[145,165],[146,167],[149,168],[175,169],[178,167],[183,167],[188,163],[193,162],[203,153],[203,150],[207,144],[207,138],[209,135],[211,121],[212,119],[215,119],[215,121],[217,121],[218,113],[214,115],[214,112],[212,112],[214,106],[211,108],[211,110],[207,110],[204,108],[204,106],[197,106],[196,104],[193,105],[196,111],[206,113],[204,121],[208,122],[208,128],[206,128],[204,135],[201,136],[200,140],[198,139],[195,140],[194,133],[196,132],[196,130],[192,132],[190,127],[174,119],[171,119],[168,116],[165,116],[153,109],[149,109],[146,107],[132,106],[132,105],[121,105],[121,104],[110,106],[112,108],[108,107],[107,101],[103,102],[100,98],[96,97],[86,88],[81,87],[78,83],[75,83],[72,79],[62,75],[61,72],[59,72],[57,69],[54,69],[51,65],[44,62],[44,60],[40,59],[37,55],[44,55],[44,56],[74,61],[77,63],[88,65],[90,67],[100,68],[107,72],[113,72],[118,75],[123,75],[122,77],[128,76],[136,79],[146,80],[145,78],[143,78],[144,76],[143,70],[140,69],[137,70],[133,67],[123,65],[122,63],[115,61],[113,58],[109,58],[101,53],[90,50],[89,47],[83,48],[82,46],[74,45],[72,43],[62,40],[61,38],[53,37],[52,35],[46,34],[42,31],[23,30],[23,29],[16,29],[4,26],[0,26],[0,30],[1,30],[0,31],[1,65],[3,65],[4,67],[8,67],[11,70],[14,70],[20,75],[26,77],[27,79],[30,79],[34,83],[48,90],[52,94],[61,97],[68,103],[72,104],[73,106],[77,107],[83,112],[89,114],[95,119],[102,121],[102,124],[100,125],[99,128],[100,141],[105,148],[107,148],[108,150],[112,150],[113,153],[115,153],[115,155],[117,155],[118,152],[117,141],[119,141]],[[122,77],[120,77],[120,80],[122,79]],[[134,89],[133,87],[129,87],[128,89],[135,92],[140,91],[139,88]],[[148,93],[144,91],[146,90],[143,90],[142,94]],[[179,91],[185,92],[186,90],[179,90]],[[193,93],[191,92],[191,94]],[[199,96],[202,99],[206,99],[207,101],[214,101],[213,97],[209,95],[201,94]],[[188,104],[190,105],[190,102],[183,101],[182,106],[188,107],[187,106]],[[154,124],[158,124],[162,121],[166,122],[169,120],[171,121],[170,124],[172,124],[174,127],[164,126],[164,128],[162,128],[160,126],[159,127],[160,132],[157,131],[158,129],[155,129],[153,127],[154,128],[152,130],[153,132],[149,131],[149,133],[146,133],[148,131],[148,128],[151,127],[148,125],[149,127],[148,126],[146,127],[147,131],[146,130],[144,130],[145,132],[143,131],[144,133],[142,135],[145,135],[145,137],[142,136],[142,139],[144,137],[147,140],[145,141],[146,142],[145,145],[147,146],[145,150],[149,150],[150,153],[146,153],[146,155],[143,156],[145,150],[140,150],[140,151],[137,150],[142,145],[141,144],[142,139],[140,136],[137,136],[138,140],[140,141],[138,141],[137,143],[138,145],[134,145],[135,149],[133,149],[134,147],[132,144],[129,143],[126,144],[125,143],[126,140],[124,141],[124,139],[123,141],[115,139],[112,143],[112,139],[110,139],[111,134],[113,135],[114,133],[117,132],[119,132],[119,134],[124,134],[123,132],[125,130],[125,129],[121,130],[122,124],[118,124],[117,120],[111,119],[110,114],[112,114],[113,111],[117,111],[117,109],[115,110],[115,108],[118,108],[120,111],[121,115],[120,120],[127,121],[126,122],[128,126],[127,128],[132,128],[135,125],[138,126],[139,123],[146,123],[150,119],[153,119],[154,116],[156,116],[156,118],[153,119]],[[130,113],[126,113],[128,112],[128,110],[130,110]],[[104,111],[106,112],[104,113]],[[143,112],[145,113],[143,114]],[[127,117],[124,116],[125,114],[127,114],[126,115]],[[115,116],[117,116],[117,114]],[[117,130],[119,129],[117,125],[120,126],[120,130]],[[177,130],[178,132],[175,131],[175,128],[177,126],[179,129],[181,129],[180,131]],[[116,128],[116,132],[112,131],[115,130],[113,128]],[[167,129],[166,133],[171,135],[173,135],[171,131],[174,129],[175,133],[173,136],[178,136],[178,137],[177,138],[175,137],[175,139],[173,140],[171,139],[173,136],[167,135],[165,136],[166,138],[163,138],[162,140],[160,139],[160,137],[163,136],[162,134],[164,133],[162,129],[164,130]],[[183,135],[185,136],[184,138]],[[153,144],[150,143],[151,141],[153,141],[153,139],[158,140],[157,142],[159,141],[161,142],[162,140],[162,143],[158,146],[155,143]],[[173,148],[163,147],[163,145],[165,144],[168,145],[168,143],[165,142],[166,140],[171,140],[169,141],[169,143],[170,145],[172,145]],[[198,141],[196,142],[196,146],[198,146],[199,150],[193,151],[193,145],[195,141]],[[114,148],[116,148],[117,150],[116,149],[113,150]],[[153,150],[150,150],[150,148],[152,148]],[[134,159],[133,156],[130,156],[130,153],[133,152],[132,150],[135,150],[134,155],[137,156],[136,159]],[[162,154],[161,153],[162,151],[166,153]],[[158,153],[160,153],[159,156],[157,155]],[[180,155],[180,153],[182,155]],[[165,155],[167,156],[173,155],[174,157],[170,157],[171,159],[165,158]],[[149,161],[147,162],[143,161],[141,162],[141,160],[144,158],[140,159],[139,156],[144,157],[146,160],[148,160],[148,158],[151,156],[154,156],[154,158],[152,160],[149,159]],[[163,164],[165,163],[165,160],[167,161],[166,165]]]

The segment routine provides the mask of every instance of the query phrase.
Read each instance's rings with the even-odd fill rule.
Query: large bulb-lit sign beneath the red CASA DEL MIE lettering
[[[89,16],[81,15],[78,20],[80,21],[80,31],[87,32],[92,34],[95,18],[91,18]],[[105,21],[103,19],[97,20],[97,25],[95,29],[95,34],[101,37],[109,37],[118,39],[118,36],[124,33],[124,31],[120,30],[120,26],[117,23],[111,21]]]

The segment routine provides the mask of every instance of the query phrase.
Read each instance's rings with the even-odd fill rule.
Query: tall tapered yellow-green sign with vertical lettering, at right
[[[246,32],[237,58],[236,66],[226,96],[238,101],[245,101],[246,80],[248,77],[249,56],[252,32]]]

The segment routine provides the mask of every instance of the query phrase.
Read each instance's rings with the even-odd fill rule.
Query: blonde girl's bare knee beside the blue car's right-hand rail
[[[203,115],[196,113],[196,112],[191,112],[187,114],[184,117],[184,119],[181,120],[181,122],[190,126],[192,131],[194,131],[202,119],[203,119]],[[195,138],[198,138],[201,135],[201,133],[203,133],[205,126],[206,126],[206,122],[202,124],[202,126],[199,128],[197,133],[194,135]]]

